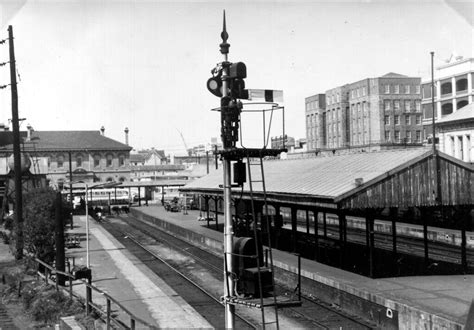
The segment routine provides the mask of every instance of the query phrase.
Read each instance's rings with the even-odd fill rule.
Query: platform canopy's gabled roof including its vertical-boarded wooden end
[[[330,205],[334,207],[340,202],[345,203],[347,199],[359,195],[367,189],[374,189],[374,187],[380,186],[387,178],[395,178],[393,180],[398,182],[399,178],[397,176],[400,173],[406,173],[407,169],[419,166],[421,162],[432,159],[432,152],[430,148],[416,148],[308,159],[265,161],[264,171],[267,196],[269,199],[273,198],[283,202],[318,203],[319,205],[324,203],[328,207],[331,207]],[[460,171],[467,173],[472,173],[473,171],[473,167],[467,163],[451,159],[445,155],[441,157],[449,161],[452,164],[450,166],[456,167]],[[252,169],[252,171],[256,170]],[[422,174],[418,177],[419,184],[413,181],[416,180],[417,174],[412,172],[408,174],[414,175],[414,179],[410,182],[410,187],[415,185],[416,187],[414,188],[416,189],[422,190],[426,188],[426,190],[429,190],[428,180],[431,182],[430,173],[426,173],[426,169],[421,168],[419,173]],[[253,174],[252,176],[255,177],[255,175],[259,177],[260,173]],[[471,184],[471,175],[468,174],[468,180],[462,183],[464,186]],[[423,180],[427,180],[427,182],[423,182]],[[222,188],[219,185],[222,185],[222,181],[221,169],[214,170],[209,175],[186,185],[182,190],[221,193]],[[456,184],[453,183],[450,189],[459,188],[455,186]],[[425,186],[423,187],[423,185]],[[468,191],[469,189],[472,190],[469,187],[467,188]],[[396,196],[398,190],[397,188],[393,189],[390,189],[390,194]],[[261,184],[258,182],[254,183],[253,190],[254,193],[263,191]],[[247,182],[244,184],[242,193],[246,194],[248,191],[249,185]],[[234,190],[234,192],[237,193],[237,190]],[[386,195],[385,192],[386,190],[383,190],[383,193]],[[460,193],[461,190],[457,192],[457,194]],[[427,193],[425,195],[429,197],[431,194]],[[420,195],[420,198],[425,198],[425,195]],[[386,200],[378,201],[375,201],[375,198],[376,196],[374,195],[372,197],[373,201],[369,201],[366,204],[379,203],[379,205],[386,205],[392,203],[390,197]],[[411,203],[412,200],[409,202]]]

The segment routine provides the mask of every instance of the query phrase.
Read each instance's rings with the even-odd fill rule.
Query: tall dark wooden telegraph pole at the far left
[[[13,160],[15,172],[15,259],[23,258],[23,201],[21,187],[21,153],[20,127],[18,124],[18,90],[16,86],[15,50],[13,46],[13,27],[8,26],[10,49],[10,79],[12,91],[12,129],[13,129]]]

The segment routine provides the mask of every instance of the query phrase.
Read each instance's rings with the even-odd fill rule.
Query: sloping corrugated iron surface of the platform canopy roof
[[[308,159],[272,160],[264,162],[267,193],[311,195],[336,198],[356,188],[355,179],[368,182],[417,157],[430,149],[416,148],[371,153],[357,153]],[[251,167],[252,180],[260,179],[260,167]],[[244,190],[248,191],[249,175]],[[186,190],[218,189],[222,185],[222,168],[189,183]],[[262,191],[254,184],[254,191]]]

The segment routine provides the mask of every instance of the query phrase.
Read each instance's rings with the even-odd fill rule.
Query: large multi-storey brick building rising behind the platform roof
[[[422,142],[420,78],[388,73],[330,89],[325,94],[326,107],[318,110],[314,126],[308,125],[309,99],[307,139],[316,135],[319,141],[308,143],[308,150]]]

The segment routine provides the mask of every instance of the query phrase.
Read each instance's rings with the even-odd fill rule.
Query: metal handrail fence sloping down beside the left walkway
[[[51,272],[51,274],[59,274],[59,275],[63,275],[63,276],[66,276],[69,278],[69,296],[70,298],[72,299],[72,280],[75,280],[76,277],[74,275],[72,275],[71,273],[68,273],[68,272],[63,272],[63,271],[60,271],[60,270],[57,270],[56,268],[52,267],[51,265],[47,264],[46,262],[38,259],[38,258],[33,258],[33,260],[35,262],[37,262],[38,264],[42,265],[45,267],[45,282],[46,284],[48,284],[48,271]],[[112,301],[114,304],[116,304],[118,307],[120,307],[121,310],[123,310],[129,317],[130,317],[130,329],[135,329],[135,323],[136,321],[138,321],[140,324],[143,324],[145,327],[147,328],[150,328],[150,329],[156,329],[156,326],[148,323],[147,321],[133,315],[132,312],[130,312],[125,306],[123,306],[121,303],[119,303],[116,299],[114,299],[112,296],[110,296],[109,294],[107,294],[106,292],[100,290],[99,288],[95,287],[94,285],[90,284],[90,283],[87,283],[86,280],[84,279],[81,279],[82,283],[85,284],[85,286],[89,289],[92,289],[96,292],[98,292],[99,294],[103,295],[106,299],[106,302],[107,302],[107,306],[106,306],[106,311],[104,312],[102,309],[101,309],[101,306],[99,305],[96,305],[96,304],[93,304],[92,303],[92,295],[90,295],[90,301],[89,299],[86,298],[86,307],[87,306],[90,306],[90,307],[93,307],[96,311],[98,311],[99,313],[101,313],[102,315],[105,315],[106,317],[106,323],[107,323],[107,329],[110,328],[110,321],[114,322],[115,324],[117,324],[119,327],[124,327],[124,324],[122,324],[122,322],[120,320],[117,320],[115,319],[114,317],[111,317],[111,309],[110,309],[110,302]],[[58,280],[56,278],[56,281],[55,281],[55,286],[56,286],[56,290],[59,289],[59,286],[58,286]],[[86,311],[88,311],[89,309],[86,308]]]

